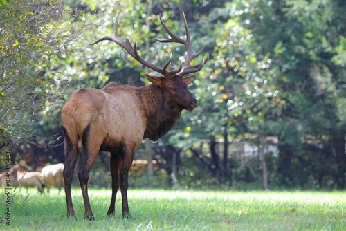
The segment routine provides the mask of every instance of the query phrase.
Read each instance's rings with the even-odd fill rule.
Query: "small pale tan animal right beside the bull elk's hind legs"
[[[44,185],[46,185],[47,187],[47,192],[49,192],[49,189],[52,185],[57,186],[60,192],[63,183],[62,170],[64,170],[63,163],[59,163],[56,165],[47,165],[42,168],[41,174],[43,177]]]

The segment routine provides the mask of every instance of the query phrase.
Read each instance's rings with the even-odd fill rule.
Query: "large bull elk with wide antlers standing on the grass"
[[[129,167],[134,158],[134,151],[143,138],[158,140],[170,131],[176,120],[179,120],[183,109],[191,111],[197,107],[197,100],[188,91],[188,84],[194,80],[194,76],[185,75],[201,70],[208,60],[207,55],[200,64],[190,66],[192,59],[201,55],[206,44],[198,53],[192,53],[185,15],[183,18],[186,39],[175,35],[163,22],[161,15],[161,24],[170,35],[170,39],[154,38],[159,42],[176,42],[186,47],[185,62],[172,71],[167,70],[172,55],[161,68],[138,55],[136,42],[132,45],[129,39],[125,41],[120,39],[118,37],[118,17],[115,21],[114,35],[102,37],[91,45],[103,40],[113,41],[124,48],[140,64],[163,76],[146,75],[147,79],[152,82],[149,86],[134,87],[111,82],[101,90],[79,89],[74,91],[66,102],[62,109],[66,158],[63,175],[67,216],[73,218],[75,218],[75,212],[71,199],[71,179],[78,153],[81,151],[83,155],[78,169],[78,180],[84,199],[84,217],[94,219],[89,203],[87,183],[89,170],[95,163],[99,151],[111,153],[112,194],[107,216],[114,213],[119,187],[122,195],[122,216],[129,216],[127,189]]]

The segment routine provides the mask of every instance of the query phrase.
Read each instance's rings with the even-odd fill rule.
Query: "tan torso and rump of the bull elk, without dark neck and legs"
[[[66,102],[62,111],[62,126],[73,144],[78,145],[78,151],[83,149],[83,131],[88,126],[91,131],[89,138],[98,148],[101,145],[118,147],[126,140],[126,146],[136,149],[143,140],[147,122],[138,111],[140,102],[133,97],[134,89],[118,84],[114,86],[120,87],[111,88],[113,91],[80,89]]]

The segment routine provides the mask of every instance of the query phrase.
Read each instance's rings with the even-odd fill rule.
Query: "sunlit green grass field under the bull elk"
[[[12,192],[10,206],[0,192],[0,230],[346,230],[346,192],[129,190],[132,217],[122,219],[121,199],[109,218],[111,190],[91,189],[95,221],[83,217],[79,188],[73,190],[77,221],[66,219],[64,192]]]

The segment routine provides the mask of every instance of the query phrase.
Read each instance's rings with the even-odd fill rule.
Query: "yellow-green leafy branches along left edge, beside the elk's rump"
[[[58,1],[2,1],[0,15],[0,146],[12,147],[64,93],[64,76],[50,68],[71,55],[79,31]]]

